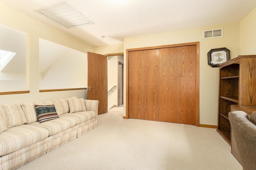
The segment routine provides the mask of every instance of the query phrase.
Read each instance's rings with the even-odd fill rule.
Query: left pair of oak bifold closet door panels
[[[158,111],[159,49],[128,53],[129,118],[159,120]]]

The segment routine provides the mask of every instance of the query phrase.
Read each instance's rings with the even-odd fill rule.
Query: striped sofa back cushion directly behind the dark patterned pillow
[[[53,105],[53,102],[52,101],[35,101],[35,102],[23,103],[21,105],[21,108],[27,120],[25,124],[30,124],[38,121],[35,105]]]

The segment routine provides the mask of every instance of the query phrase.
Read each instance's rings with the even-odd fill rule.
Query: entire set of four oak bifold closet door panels
[[[197,47],[128,51],[128,118],[199,125]]]

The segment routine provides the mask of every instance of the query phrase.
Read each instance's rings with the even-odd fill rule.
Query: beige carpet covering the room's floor
[[[98,127],[18,170],[242,170],[216,129],[123,119],[123,107]]]

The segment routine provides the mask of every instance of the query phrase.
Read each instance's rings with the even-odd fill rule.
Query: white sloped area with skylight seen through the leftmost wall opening
[[[26,36],[0,24],[0,49],[12,52],[0,62],[1,91],[26,90]]]

